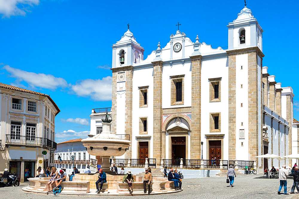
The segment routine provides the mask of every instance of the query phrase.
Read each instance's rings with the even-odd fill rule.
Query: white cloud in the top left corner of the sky
[[[26,15],[30,7],[38,5],[39,0],[0,0],[0,14],[3,16]]]

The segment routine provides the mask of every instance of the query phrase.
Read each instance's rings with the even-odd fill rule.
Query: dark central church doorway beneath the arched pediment
[[[171,137],[172,159],[186,159],[186,137]]]

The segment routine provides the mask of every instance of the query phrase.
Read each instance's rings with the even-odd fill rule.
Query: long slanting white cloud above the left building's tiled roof
[[[58,87],[68,86],[68,83],[65,81],[65,79],[61,77],[55,77],[50,74],[27,72],[18,68],[10,67],[9,65],[5,65],[2,69],[5,69],[12,77],[17,79],[14,83],[15,85],[19,85],[20,82],[25,81],[31,88],[39,87],[51,90],[54,90]]]

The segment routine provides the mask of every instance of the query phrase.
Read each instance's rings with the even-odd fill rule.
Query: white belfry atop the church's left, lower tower
[[[112,45],[112,68],[132,66],[143,60],[144,49],[137,43],[133,33],[129,29],[121,39]]]

